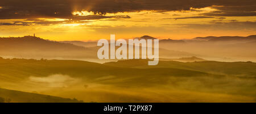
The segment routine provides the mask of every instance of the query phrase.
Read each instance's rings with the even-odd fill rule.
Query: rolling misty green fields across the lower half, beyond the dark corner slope
[[[255,102],[253,62],[147,61],[1,58],[0,87],[84,102]]]

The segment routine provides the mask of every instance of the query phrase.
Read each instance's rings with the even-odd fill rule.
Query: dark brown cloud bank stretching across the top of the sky
[[[65,18],[71,19],[73,11],[132,12],[141,10],[181,11],[213,5],[220,11],[204,15],[251,16],[255,15],[255,0],[1,0],[0,19]],[[236,13],[236,11],[238,11]]]

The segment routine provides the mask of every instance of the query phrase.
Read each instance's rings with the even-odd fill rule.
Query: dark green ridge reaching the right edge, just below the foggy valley
[[[233,75],[240,77],[256,77],[256,63],[254,62],[217,62],[217,61],[201,61],[201,62],[177,62],[177,61],[159,61],[156,66],[148,66],[148,60],[125,60],[118,62],[108,62],[104,65],[135,67],[135,68],[176,68],[193,71],[202,71],[205,73],[213,73],[220,75]]]

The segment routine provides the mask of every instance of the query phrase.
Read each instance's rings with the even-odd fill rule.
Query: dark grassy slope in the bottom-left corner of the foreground
[[[81,103],[77,99],[60,98],[57,96],[34,94],[0,88],[0,99],[13,103]],[[8,101],[9,100],[9,101]]]

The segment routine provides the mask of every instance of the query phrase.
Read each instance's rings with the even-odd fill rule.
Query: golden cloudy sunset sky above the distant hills
[[[0,37],[64,41],[256,35],[255,0],[1,0]]]

